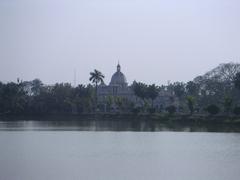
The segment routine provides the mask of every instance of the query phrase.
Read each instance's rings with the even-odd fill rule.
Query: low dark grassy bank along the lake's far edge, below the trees
[[[36,121],[64,121],[64,120],[112,120],[112,121],[158,121],[172,123],[226,123],[239,124],[240,116],[210,116],[210,115],[189,115],[189,114],[130,114],[130,113],[92,113],[92,114],[38,114],[38,115],[1,115],[0,121],[14,120],[36,120]]]

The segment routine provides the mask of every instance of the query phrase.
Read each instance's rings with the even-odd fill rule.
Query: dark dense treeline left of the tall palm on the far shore
[[[43,85],[39,79],[30,82],[0,83],[1,114],[52,114],[92,112],[94,88],[72,87],[68,83]]]

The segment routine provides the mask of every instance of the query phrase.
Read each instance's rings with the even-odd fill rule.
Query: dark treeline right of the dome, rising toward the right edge
[[[240,64],[220,64],[187,83],[174,82],[156,86],[134,82],[133,90],[144,102],[138,112],[240,115]],[[174,94],[169,98],[177,103],[172,103],[165,109],[156,109],[153,102],[159,92]]]

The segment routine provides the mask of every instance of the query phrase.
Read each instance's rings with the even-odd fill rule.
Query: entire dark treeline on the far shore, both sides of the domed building
[[[101,109],[96,92],[104,75],[90,73],[93,85],[71,86],[69,83],[44,85],[41,80],[0,82],[0,114],[81,114]],[[157,86],[134,82],[131,86],[142,104],[120,97],[109,97],[106,105],[114,104],[121,112],[240,115],[240,64],[227,63],[187,83],[175,82]],[[170,92],[171,101],[164,109],[154,106],[161,92]]]

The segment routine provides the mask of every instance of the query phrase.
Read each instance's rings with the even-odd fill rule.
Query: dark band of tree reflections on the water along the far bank
[[[0,121],[2,131],[181,131],[181,132],[240,132],[239,126],[226,124],[171,123],[152,120],[21,120]]]

